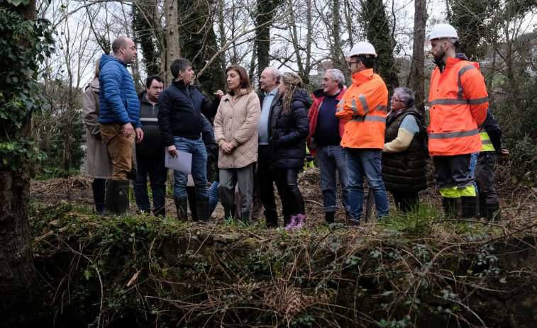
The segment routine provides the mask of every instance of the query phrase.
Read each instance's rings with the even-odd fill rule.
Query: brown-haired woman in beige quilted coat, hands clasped
[[[258,161],[258,125],[261,106],[243,67],[226,69],[228,94],[223,96],[214,119],[218,143],[218,192],[226,218],[235,212],[235,185],[240,194],[240,220],[248,225],[252,208],[253,164]]]

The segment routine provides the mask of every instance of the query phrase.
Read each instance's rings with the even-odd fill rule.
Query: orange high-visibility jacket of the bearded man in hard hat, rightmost
[[[427,129],[431,156],[470,154],[481,150],[478,127],[487,117],[489,95],[479,69],[466,60],[448,57],[441,73],[431,77],[431,124]]]

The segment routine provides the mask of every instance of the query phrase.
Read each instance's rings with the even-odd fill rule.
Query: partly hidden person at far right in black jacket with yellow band
[[[480,130],[482,149],[475,166],[475,183],[480,200],[480,212],[487,220],[499,220],[499,200],[494,189],[494,164],[498,154],[507,155],[509,150],[502,147],[502,129],[487,109],[487,118]]]

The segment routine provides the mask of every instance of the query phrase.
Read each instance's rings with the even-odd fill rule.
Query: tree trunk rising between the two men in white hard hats
[[[425,123],[425,84],[423,69],[425,65],[424,40],[426,17],[426,0],[414,0],[414,45],[412,45],[412,63],[410,65],[411,88],[416,93],[416,109],[423,115]]]

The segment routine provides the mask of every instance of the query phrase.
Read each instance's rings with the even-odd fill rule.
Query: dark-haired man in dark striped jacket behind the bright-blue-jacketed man
[[[138,94],[140,99],[140,123],[144,138],[136,144],[136,164],[138,178],[133,180],[136,205],[143,213],[150,213],[148,196],[148,174],[153,193],[153,214],[166,215],[166,176],[164,166],[164,143],[158,128],[158,98],[164,83],[159,75],[150,75],[145,81],[145,91]]]

